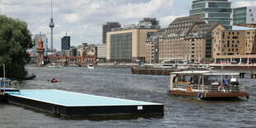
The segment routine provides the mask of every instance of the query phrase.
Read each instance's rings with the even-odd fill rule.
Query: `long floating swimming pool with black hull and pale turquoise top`
[[[164,105],[60,90],[7,92],[3,99],[17,105],[47,111],[57,116],[158,115]]]

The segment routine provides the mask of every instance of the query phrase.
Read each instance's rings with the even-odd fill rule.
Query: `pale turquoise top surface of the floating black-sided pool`
[[[100,97],[78,92],[60,90],[20,90],[20,93],[8,92],[12,96],[24,97],[40,102],[49,102],[66,107],[84,106],[132,106],[132,105],[161,105],[153,102],[139,102],[111,97]]]

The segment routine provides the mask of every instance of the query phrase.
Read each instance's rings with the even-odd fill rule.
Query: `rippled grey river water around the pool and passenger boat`
[[[0,127],[256,127],[256,79],[240,79],[249,100],[204,101],[168,96],[169,76],[132,74],[126,68],[26,67],[36,73],[21,83],[22,89],[59,89],[106,97],[164,103],[164,116],[120,120],[68,120],[47,113],[0,103]],[[52,77],[60,83],[49,83]]]

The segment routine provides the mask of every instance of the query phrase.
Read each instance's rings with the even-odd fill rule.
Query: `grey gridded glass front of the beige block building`
[[[111,35],[110,59],[132,59],[132,32]]]

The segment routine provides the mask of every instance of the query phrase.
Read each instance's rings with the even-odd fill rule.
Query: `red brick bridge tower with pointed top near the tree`
[[[38,42],[37,42],[38,46],[36,48],[36,52],[37,52],[37,60],[36,60],[36,66],[44,66],[44,51],[45,48],[43,47],[44,42],[40,36]]]

